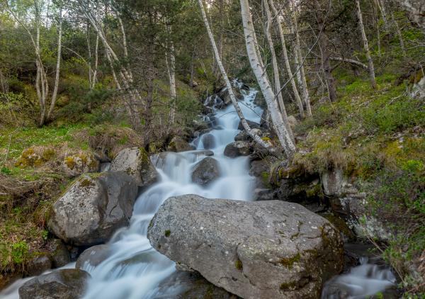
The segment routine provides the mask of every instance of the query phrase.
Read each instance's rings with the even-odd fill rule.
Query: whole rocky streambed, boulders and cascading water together
[[[273,138],[257,92],[234,85],[251,126]],[[154,157],[125,149],[108,171],[77,179],[48,222],[79,250],[77,263],[0,297],[338,299],[394,286],[387,266],[344,249],[353,232],[327,217],[338,198],[362,196],[337,171],[311,176],[268,156],[239,128],[225,89],[206,99],[194,129],[190,144],[174,137]],[[317,198],[322,188],[330,204]]]

